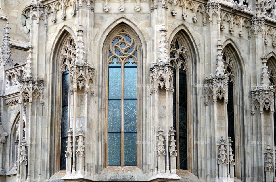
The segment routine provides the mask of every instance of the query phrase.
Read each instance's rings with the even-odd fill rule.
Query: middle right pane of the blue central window
[[[124,101],[124,131],[137,131],[137,100]]]

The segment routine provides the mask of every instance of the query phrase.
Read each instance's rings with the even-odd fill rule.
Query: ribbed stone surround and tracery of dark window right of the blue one
[[[180,25],[172,31],[169,41],[168,41],[168,52],[169,52],[169,61],[172,64],[172,68],[175,72],[173,76],[173,80],[175,82],[173,91],[175,94],[176,100],[173,103],[178,103],[179,101],[179,89],[186,88],[186,95],[187,95],[187,154],[192,154],[193,148],[193,133],[196,131],[191,128],[191,123],[196,119],[197,110],[194,108],[196,105],[196,98],[191,96],[192,93],[196,92],[196,87],[194,87],[196,83],[196,66],[197,66],[197,48],[195,41],[193,40],[191,33],[184,27],[184,25]],[[186,84],[182,85],[179,82],[179,72],[185,71],[186,74]],[[190,97],[191,96],[191,97]],[[179,153],[179,106],[176,104],[176,115],[175,117],[175,130],[176,130],[176,151],[177,151],[177,169],[180,169],[180,158],[181,155]],[[173,112],[174,113],[174,112]],[[183,147],[183,146],[182,146]],[[196,156],[187,155],[187,169],[192,171],[193,170],[193,160]]]

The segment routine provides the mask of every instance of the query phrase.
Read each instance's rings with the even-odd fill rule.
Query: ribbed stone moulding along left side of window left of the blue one
[[[69,33],[70,32],[70,33]],[[55,111],[55,114],[52,115],[51,118],[51,136],[53,136],[53,140],[51,140],[51,144],[49,147],[53,150],[54,160],[50,161],[50,166],[54,166],[51,169],[51,175],[58,172],[60,169],[60,145],[61,145],[61,100],[62,100],[62,73],[65,71],[65,66],[67,66],[67,70],[69,71],[70,62],[63,63],[65,55],[62,54],[63,49],[68,44],[70,39],[72,40],[72,44],[75,42],[76,38],[74,38],[74,34],[72,34],[72,30],[64,26],[60,32],[58,33],[56,39],[53,41],[53,45],[51,52],[51,68],[49,71],[51,72],[52,79],[52,96],[51,96],[51,110]],[[69,42],[70,44],[70,42]],[[73,59],[73,58],[72,58]],[[73,61],[73,60],[72,60]]]

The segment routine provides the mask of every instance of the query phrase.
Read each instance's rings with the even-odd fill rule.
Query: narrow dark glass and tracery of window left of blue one
[[[75,56],[75,43],[71,36],[64,41],[60,62],[62,73],[61,97],[61,141],[60,141],[60,170],[66,169],[65,151],[67,145],[68,115],[69,115],[69,67]]]

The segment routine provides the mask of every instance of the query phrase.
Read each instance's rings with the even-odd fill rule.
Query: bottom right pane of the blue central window
[[[137,165],[137,134],[124,134],[124,165]]]

